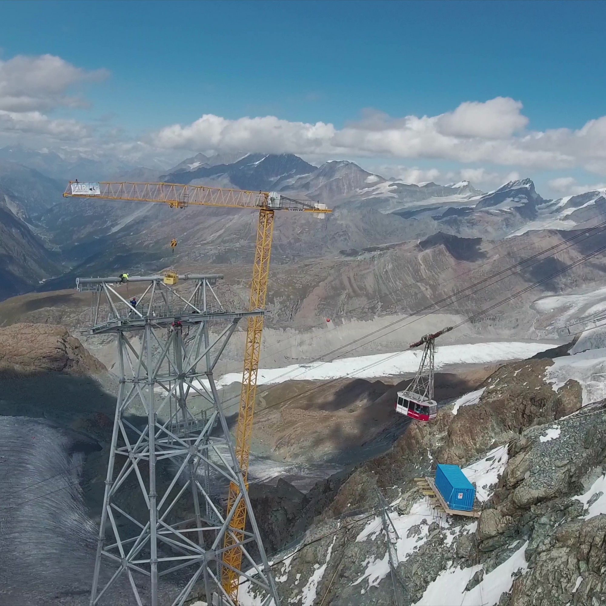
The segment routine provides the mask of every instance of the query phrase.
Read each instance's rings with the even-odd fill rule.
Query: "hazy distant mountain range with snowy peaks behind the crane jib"
[[[66,201],[61,197],[65,187],[62,175],[78,162],[84,160],[25,148],[0,150],[0,208],[8,213],[0,221],[4,224],[0,248],[4,248],[7,258],[12,258],[11,264],[3,267],[0,250],[0,274],[4,271],[6,284],[18,284],[16,291],[27,287],[21,276],[33,276],[33,285],[45,278],[45,270],[26,271],[13,254],[26,241],[41,259],[38,267],[46,263],[53,267],[54,275],[58,271],[56,264],[67,264],[75,268],[73,271],[87,275],[115,271],[126,258],[131,263],[139,259],[141,271],[151,270],[158,263],[172,261],[166,256],[170,251],[165,242],[175,234],[179,235],[180,244],[177,255],[185,254],[199,262],[240,263],[248,259],[247,250],[253,250],[256,231],[254,217],[249,213],[188,209],[177,216],[156,205]],[[440,234],[438,240],[445,244],[438,242],[439,245],[448,250],[467,250],[467,244],[458,240],[497,241],[533,230],[544,233],[592,227],[606,211],[606,190],[550,200],[539,195],[530,179],[521,179],[482,193],[468,181],[407,184],[371,173],[353,162],[330,161],[316,167],[290,154],[199,153],[164,172],[149,167],[106,165],[96,173],[90,162],[79,166],[82,173],[78,175],[90,178],[99,174],[100,180],[107,175],[105,178],[116,181],[162,180],[280,191],[293,198],[325,202],[334,212],[321,225],[309,218],[281,216],[275,247],[276,255],[282,254],[284,259],[290,258],[288,255],[304,258],[356,256],[366,254],[364,251],[374,254],[393,248],[394,243],[433,242],[431,237]],[[185,227],[183,216],[187,216]],[[17,227],[22,234],[20,239],[11,235],[17,233]],[[71,274],[64,278],[61,287],[72,284]],[[4,291],[12,294],[15,288]]]

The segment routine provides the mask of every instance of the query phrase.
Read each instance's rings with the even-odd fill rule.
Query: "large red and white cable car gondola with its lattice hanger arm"
[[[409,349],[425,345],[421,356],[421,364],[415,378],[408,388],[398,391],[396,412],[409,416],[417,421],[433,421],[438,415],[438,404],[433,399],[433,369],[436,355],[436,338],[444,335],[453,327],[442,328],[433,335],[425,335],[420,341],[410,345]]]

